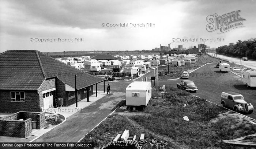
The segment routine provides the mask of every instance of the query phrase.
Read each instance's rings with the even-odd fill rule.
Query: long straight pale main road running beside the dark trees
[[[216,53],[209,53],[209,54],[210,54],[211,56],[213,56],[213,57],[216,57]],[[214,55],[215,55],[215,56],[214,56]],[[229,60],[231,63],[234,62],[235,64],[238,64],[238,65],[241,64],[240,58],[237,58],[237,57],[228,57],[228,56],[219,55],[219,54],[217,54],[217,57],[219,57],[219,58],[221,58],[221,59],[227,59],[227,60]],[[242,60],[242,65],[244,65],[245,67],[250,67],[250,68],[256,70],[256,61],[252,61],[252,60],[243,61],[243,60]]]

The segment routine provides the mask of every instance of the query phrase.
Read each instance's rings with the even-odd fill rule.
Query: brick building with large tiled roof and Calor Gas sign
[[[95,77],[36,50],[0,54],[0,112],[41,112],[63,98],[63,105],[89,100],[93,86],[105,79]]]

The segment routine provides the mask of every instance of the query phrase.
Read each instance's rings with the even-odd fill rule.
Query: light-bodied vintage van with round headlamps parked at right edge
[[[222,92],[221,104],[223,107],[232,108],[236,112],[252,114],[253,105],[244,100],[244,96],[235,92]]]

